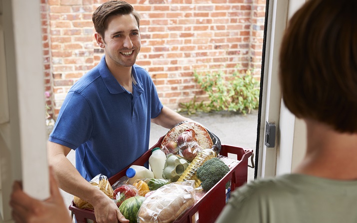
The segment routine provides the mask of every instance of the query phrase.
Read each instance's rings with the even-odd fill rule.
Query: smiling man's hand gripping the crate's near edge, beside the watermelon
[[[103,194],[104,195],[104,194]],[[94,207],[95,220],[97,223],[129,223],[129,220],[120,213],[116,204],[106,195]]]

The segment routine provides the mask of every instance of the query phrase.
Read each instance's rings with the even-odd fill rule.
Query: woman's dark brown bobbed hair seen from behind
[[[356,133],[357,1],[307,1],[284,35],[279,75],[293,114]]]

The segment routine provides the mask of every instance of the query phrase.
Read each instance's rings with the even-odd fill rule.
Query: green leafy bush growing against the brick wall
[[[196,111],[235,111],[243,114],[259,106],[260,83],[253,77],[250,70],[239,73],[238,69],[232,77],[226,80],[226,74],[217,72],[199,74],[194,72],[195,80],[209,97],[208,103],[197,104],[196,98],[189,103],[181,103],[180,111],[189,114]]]

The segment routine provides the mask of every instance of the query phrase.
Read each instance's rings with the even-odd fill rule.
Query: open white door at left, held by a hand
[[[39,10],[39,0],[0,0],[0,223],[11,222],[14,180],[49,196]]]

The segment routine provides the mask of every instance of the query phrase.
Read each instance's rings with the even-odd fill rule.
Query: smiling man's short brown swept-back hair
[[[107,28],[108,17],[111,15],[124,14],[133,14],[139,27],[140,14],[134,10],[131,4],[121,0],[109,0],[107,2],[104,2],[97,9],[95,9],[92,16],[95,31],[98,32],[104,38],[104,32]]]

